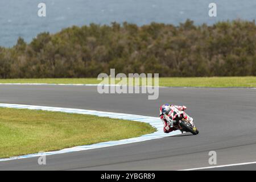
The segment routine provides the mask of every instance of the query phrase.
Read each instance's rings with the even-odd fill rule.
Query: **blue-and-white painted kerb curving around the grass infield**
[[[90,150],[93,148],[117,146],[120,144],[143,142],[146,140],[170,137],[173,135],[181,134],[181,132],[179,130],[173,131],[169,134],[163,133],[163,131],[162,131],[163,126],[159,125],[162,122],[160,121],[160,119],[158,117],[149,117],[149,116],[144,116],[144,115],[134,115],[134,114],[124,114],[124,113],[112,113],[112,112],[96,111],[96,110],[73,109],[73,108],[50,107],[50,106],[21,105],[21,104],[1,104],[0,103],[0,107],[8,107],[8,108],[15,108],[15,109],[45,110],[45,111],[60,111],[60,112],[64,112],[64,113],[89,114],[89,115],[97,115],[98,117],[126,119],[126,120],[130,120],[130,121],[145,122],[145,123],[150,124],[152,127],[154,127],[156,129],[156,131],[154,133],[142,135],[141,137],[101,142],[101,143],[77,146],[77,147],[72,147],[72,148],[64,148],[63,150],[44,152],[41,154],[28,154],[28,155],[22,155],[22,156],[15,156],[15,157],[11,157],[11,158],[0,159],[0,162],[6,161],[6,160],[39,157],[42,155],[64,154],[67,152],[75,152],[75,151]]]

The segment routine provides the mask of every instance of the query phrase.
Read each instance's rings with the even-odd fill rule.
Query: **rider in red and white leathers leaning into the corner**
[[[178,121],[176,121],[176,119],[178,119],[176,111],[184,111],[185,109],[187,109],[186,106],[177,106],[177,105],[169,105],[169,104],[164,104],[160,107],[160,119],[164,125],[163,127],[164,133],[170,133],[172,131],[177,130],[176,127],[174,127],[174,125],[179,124]],[[193,118],[189,117],[185,113],[183,113],[183,117],[185,119],[188,119],[189,121],[193,121]],[[183,130],[180,130],[180,131],[181,133],[183,133]]]

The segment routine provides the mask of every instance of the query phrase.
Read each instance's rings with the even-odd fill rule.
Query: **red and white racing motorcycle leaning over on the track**
[[[186,114],[184,111],[179,111],[179,110],[175,110],[174,112],[168,114],[168,117],[173,118],[176,115],[176,117],[174,118],[174,123],[172,123],[172,125],[181,131],[185,131],[185,132],[190,132],[193,135],[197,135],[199,134],[199,130],[196,128],[195,123],[193,122],[192,119],[185,119],[185,118],[190,118],[188,116],[188,114]]]

